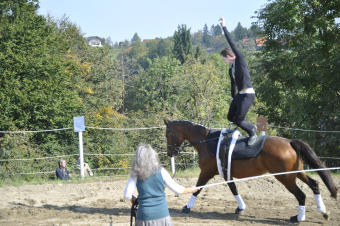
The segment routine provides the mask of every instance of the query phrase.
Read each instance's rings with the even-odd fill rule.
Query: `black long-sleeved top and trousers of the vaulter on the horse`
[[[253,136],[255,127],[253,126],[253,124],[246,121],[245,118],[250,106],[254,103],[255,93],[236,94],[237,91],[240,92],[242,89],[253,88],[250,81],[248,65],[245,60],[245,56],[236,47],[235,43],[231,39],[227,28],[223,27],[223,31],[231,49],[236,56],[234,64],[229,69],[229,76],[231,81],[231,96],[233,97],[233,100],[230,104],[228,120],[234,122],[236,125],[245,130],[249,134],[249,136]],[[233,67],[235,68],[233,69]]]

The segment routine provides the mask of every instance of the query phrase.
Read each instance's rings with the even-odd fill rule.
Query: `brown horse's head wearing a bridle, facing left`
[[[181,130],[176,127],[174,123],[165,119],[166,125],[166,141],[167,141],[167,152],[169,157],[173,157],[179,154],[179,147],[184,141],[184,135]]]

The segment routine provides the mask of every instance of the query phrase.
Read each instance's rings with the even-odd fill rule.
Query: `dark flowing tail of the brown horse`
[[[294,148],[296,153],[302,157],[302,160],[313,169],[326,168],[308,144],[300,140],[292,140],[290,145]],[[329,170],[321,170],[317,172],[327,186],[331,196],[336,199],[338,188],[335,186]]]

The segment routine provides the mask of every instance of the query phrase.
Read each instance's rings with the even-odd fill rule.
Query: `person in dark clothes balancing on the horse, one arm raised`
[[[222,50],[223,61],[231,65],[229,76],[231,80],[231,96],[233,98],[228,112],[228,120],[235,123],[249,134],[248,145],[256,141],[256,126],[245,120],[250,106],[255,100],[255,91],[250,81],[248,65],[245,56],[237,48],[225,26],[224,18],[219,19],[225,37],[231,47]],[[237,89],[237,90],[236,90]],[[236,94],[236,92],[238,93]]]

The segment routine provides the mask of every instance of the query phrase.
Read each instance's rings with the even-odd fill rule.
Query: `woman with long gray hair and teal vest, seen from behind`
[[[198,191],[195,186],[185,188],[177,184],[161,167],[158,155],[151,145],[140,145],[137,148],[131,175],[124,191],[124,196],[134,203],[136,197],[132,194],[137,187],[139,204],[136,216],[137,226],[172,225],[165,200],[165,186],[178,194]]]

